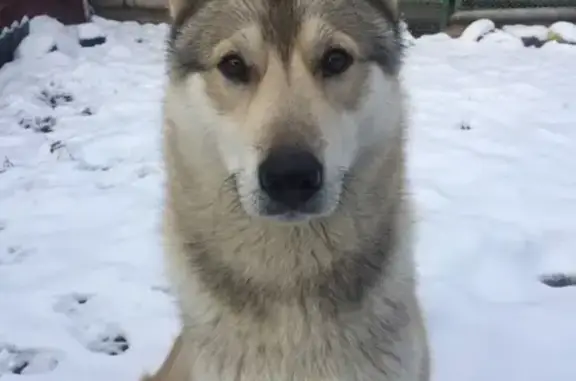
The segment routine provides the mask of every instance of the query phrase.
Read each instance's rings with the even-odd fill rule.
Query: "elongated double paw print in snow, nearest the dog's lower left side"
[[[124,330],[116,323],[90,314],[93,295],[70,294],[60,297],[54,311],[68,319],[68,331],[84,348],[94,353],[117,356],[130,348]]]

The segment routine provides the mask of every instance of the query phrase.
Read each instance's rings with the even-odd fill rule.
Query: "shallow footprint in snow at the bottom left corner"
[[[0,343],[0,378],[2,375],[33,375],[53,371],[62,360],[62,353],[48,348],[20,348]]]

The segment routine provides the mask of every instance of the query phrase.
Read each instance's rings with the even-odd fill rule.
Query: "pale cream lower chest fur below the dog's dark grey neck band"
[[[212,313],[184,332],[190,381],[399,380],[409,366],[408,311],[391,300],[334,319],[300,306],[278,306],[267,321]]]

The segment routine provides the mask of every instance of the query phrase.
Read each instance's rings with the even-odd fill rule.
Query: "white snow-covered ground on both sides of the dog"
[[[576,46],[513,30],[407,56],[438,381],[576,380],[576,287],[541,282],[576,276]],[[35,19],[0,70],[2,381],[136,380],[178,330],[158,240],[166,31]]]

